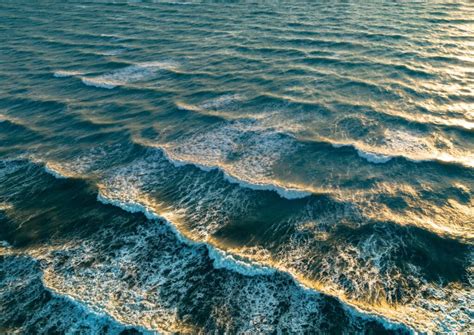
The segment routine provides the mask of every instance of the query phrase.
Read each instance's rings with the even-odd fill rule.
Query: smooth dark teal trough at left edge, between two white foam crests
[[[95,209],[96,189],[87,182],[57,179],[35,164],[23,162],[2,179],[2,202],[13,208],[4,214],[0,238],[14,247],[35,246],[78,230],[90,233],[113,212]]]

